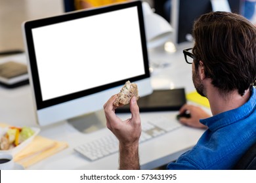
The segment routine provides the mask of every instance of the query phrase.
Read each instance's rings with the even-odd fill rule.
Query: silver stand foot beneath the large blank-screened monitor
[[[81,133],[92,133],[106,127],[104,110],[98,110],[68,120],[68,123]]]

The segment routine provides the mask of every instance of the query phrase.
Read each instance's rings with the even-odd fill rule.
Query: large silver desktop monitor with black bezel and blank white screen
[[[127,80],[152,93],[140,1],[25,22],[39,125],[95,112]]]

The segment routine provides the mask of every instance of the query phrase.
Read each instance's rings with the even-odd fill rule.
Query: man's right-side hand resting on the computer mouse
[[[199,122],[200,119],[209,118],[210,115],[207,114],[202,108],[196,107],[194,105],[183,105],[179,110],[180,114],[186,112],[188,110],[190,112],[190,118],[179,118],[179,121],[191,127],[198,127],[198,128],[207,128],[205,125]]]

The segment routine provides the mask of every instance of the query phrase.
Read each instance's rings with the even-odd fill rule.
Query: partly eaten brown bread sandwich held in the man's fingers
[[[120,92],[117,93],[116,101],[114,105],[119,107],[121,105],[127,105],[130,103],[131,98],[135,96],[136,99],[139,99],[139,92],[137,84],[131,83],[129,80],[125,82],[125,85],[121,88]]]

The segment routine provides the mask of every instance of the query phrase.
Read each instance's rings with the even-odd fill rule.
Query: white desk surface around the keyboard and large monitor
[[[149,53],[150,63],[165,63],[164,68],[154,69],[152,86],[154,89],[185,88],[186,92],[194,91],[192,84],[192,67],[184,61],[182,50],[169,54],[163,50]],[[0,61],[3,61],[1,58]],[[9,58],[8,58],[9,59]],[[26,62],[24,55],[14,56],[12,60]],[[156,64],[154,64],[156,65]],[[142,123],[156,116],[165,116],[174,120],[178,112],[146,112],[141,113]],[[129,114],[119,114],[128,118]],[[0,122],[18,126],[37,126],[33,113],[32,92],[29,85],[14,89],[0,86]],[[69,147],[53,156],[28,167],[28,169],[118,169],[118,153],[97,161],[89,161],[77,152],[74,147],[97,138],[99,135],[111,133],[101,129],[94,133],[80,133],[68,122],[40,127],[39,135],[58,141],[66,141]],[[194,146],[202,129],[182,126],[181,128],[140,144],[141,169],[154,169],[177,159],[183,152]]]

